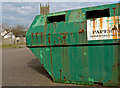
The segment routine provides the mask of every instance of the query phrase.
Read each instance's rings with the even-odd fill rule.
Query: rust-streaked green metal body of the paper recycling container
[[[54,82],[120,86],[120,39],[87,40],[86,11],[107,8],[110,17],[120,16],[117,3],[35,17],[26,33],[27,46]],[[65,22],[47,23],[47,17],[64,14]]]

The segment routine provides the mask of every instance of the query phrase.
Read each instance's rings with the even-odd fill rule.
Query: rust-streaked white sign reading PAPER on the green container
[[[120,16],[87,20],[88,40],[120,39]]]

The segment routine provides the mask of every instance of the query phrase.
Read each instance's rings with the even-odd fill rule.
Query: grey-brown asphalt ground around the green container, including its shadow
[[[83,87],[75,84],[53,83],[50,75],[26,47],[2,50],[2,86]]]

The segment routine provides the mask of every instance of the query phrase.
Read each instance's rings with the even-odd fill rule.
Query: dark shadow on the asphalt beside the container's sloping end
[[[41,65],[41,63],[37,58],[31,60],[28,63],[28,66],[53,81],[52,77],[49,75],[46,69]]]

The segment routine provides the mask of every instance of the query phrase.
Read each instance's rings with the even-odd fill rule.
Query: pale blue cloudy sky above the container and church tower
[[[49,4],[50,13],[53,13],[110,3],[113,2],[50,2]],[[42,2],[42,5],[45,4]],[[2,2],[2,22],[11,26],[22,24],[29,27],[35,16],[40,14],[39,6],[40,2]]]

